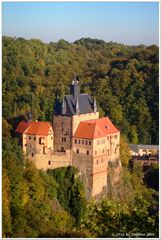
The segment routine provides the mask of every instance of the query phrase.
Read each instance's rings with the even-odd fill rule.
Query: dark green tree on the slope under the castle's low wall
[[[57,195],[60,204],[75,218],[76,226],[79,226],[86,215],[87,201],[83,183],[77,173],[78,170],[74,167],[49,170],[49,175],[61,186]]]

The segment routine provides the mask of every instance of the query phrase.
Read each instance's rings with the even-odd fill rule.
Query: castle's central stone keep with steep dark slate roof
[[[54,149],[66,151],[72,149],[72,137],[78,124],[84,120],[98,119],[96,100],[88,94],[80,94],[79,81],[70,86],[70,95],[65,95],[62,102],[57,102],[53,115]]]

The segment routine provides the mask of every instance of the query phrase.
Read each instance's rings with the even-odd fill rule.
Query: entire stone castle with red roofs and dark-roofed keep
[[[95,197],[107,187],[110,166],[121,169],[120,131],[108,117],[99,118],[96,99],[80,94],[73,81],[70,95],[54,107],[53,124],[20,122],[16,132],[24,154],[37,169],[77,167],[86,186],[86,195]]]

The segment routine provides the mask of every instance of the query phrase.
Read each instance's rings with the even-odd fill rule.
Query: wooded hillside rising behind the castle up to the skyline
[[[51,121],[56,96],[79,76],[82,92],[96,96],[130,143],[158,144],[157,46],[3,37],[2,47],[3,117],[13,129],[27,112]]]

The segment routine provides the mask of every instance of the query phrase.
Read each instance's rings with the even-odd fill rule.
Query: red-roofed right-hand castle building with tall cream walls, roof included
[[[107,188],[110,166],[120,168],[119,142],[120,131],[107,117],[79,123],[73,136],[73,164],[86,184],[87,197]]]

